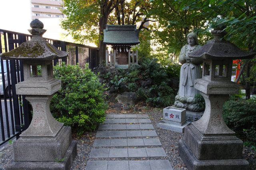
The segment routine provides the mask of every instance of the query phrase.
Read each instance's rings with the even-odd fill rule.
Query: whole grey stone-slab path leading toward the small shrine
[[[148,115],[123,114],[107,115],[99,126],[85,169],[172,170],[172,166]]]

